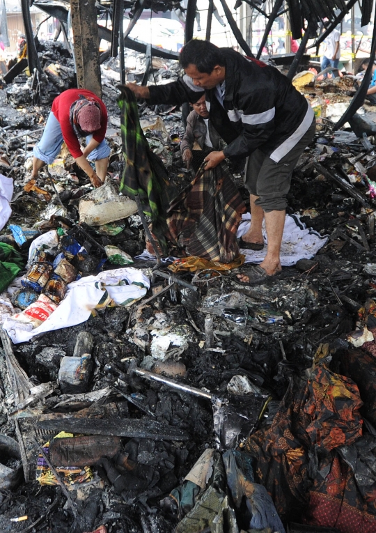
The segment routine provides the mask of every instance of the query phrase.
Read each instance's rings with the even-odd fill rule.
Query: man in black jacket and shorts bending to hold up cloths
[[[249,157],[245,185],[251,194],[251,227],[240,247],[262,249],[265,217],[267,254],[241,281],[258,282],[281,272],[281,242],[290,179],[313,139],[315,117],[308,101],[279,70],[232,49],[191,40],[180,53],[185,76],[162,86],[128,84],[151,104],[195,102],[203,95],[210,121],[226,141],[205,157],[206,169],[226,157]]]

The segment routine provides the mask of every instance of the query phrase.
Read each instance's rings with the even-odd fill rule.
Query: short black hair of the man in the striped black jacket
[[[180,65],[187,68],[188,65],[195,65],[198,72],[211,74],[216,65],[226,66],[221,49],[208,40],[192,39],[180,52]]]

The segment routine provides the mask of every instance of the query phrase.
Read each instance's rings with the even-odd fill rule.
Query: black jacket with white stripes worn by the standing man
[[[226,157],[246,157],[260,148],[279,162],[303,137],[313,121],[308,101],[279,70],[221,48],[226,61],[223,106],[216,88],[206,90],[210,121],[228,146]],[[150,103],[197,102],[203,89],[187,75],[177,82],[150,86]]]

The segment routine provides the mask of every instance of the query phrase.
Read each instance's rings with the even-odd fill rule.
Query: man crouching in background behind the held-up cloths
[[[212,127],[212,123],[210,123],[205,95],[191,105],[194,109],[187,116],[187,128],[180,144],[182,160],[185,162],[187,169],[189,169],[192,162],[193,151],[203,150],[204,156],[207,149],[214,148],[214,150],[219,150],[221,144],[223,144],[221,143],[221,137]],[[197,159],[199,158],[197,157]]]

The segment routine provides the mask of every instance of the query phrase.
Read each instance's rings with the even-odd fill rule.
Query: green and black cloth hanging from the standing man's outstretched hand
[[[152,152],[139,121],[136,98],[130,89],[119,86],[121,139],[125,167],[120,192],[134,197],[139,194],[143,213],[152,220],[152,232],[162,248],[166,243],[166,213],[176,196],[162,160]]]

